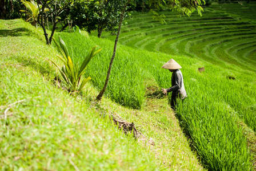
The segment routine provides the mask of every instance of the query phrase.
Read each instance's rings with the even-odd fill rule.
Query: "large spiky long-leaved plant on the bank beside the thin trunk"
[[[96,54],[98,54],[99,51],[102,50],[99,49],[98,51],[95,51],[95,47],[93,47],[90,52],[85,56],[85,59],[83,60],[83,63],[81,66],[79,66],[78,63],[74,63],[74,59],[70,58],[69,52],[67,51],[67,47],[65,42],[61,39],[61,37],[59,37],[59,43],[53,38],[55,44],[57,45],[57,47],[59,48],[59,51],[61,51],[61,54],[63,56],[63,58],[59,55],[58,58],[62,60],[62,62],[64,63],[64,65],[62,66],[62,68],[60,68],[55,62],[53,62],[51,60],[51,62],[53,62],[53,64],[58,67],[59,72],[61,72],[61,75],[63,77],[63,79],[65,80],[65,82],[67,83],[67,86],[69,86],[69,88],[71,89],[71,91],[75,91],[76,88],[79,86],[79,81],[81,79],[81,76],[85,73],[85,69],[87,64],[90,62],[91,58],[93,58],[93,56],[95,56]],[[85,86],[85,84],[87,82],[89,82],[89,80],[91,80],[90,77],[83,79],[78,91],[81,91],[83,86]]]

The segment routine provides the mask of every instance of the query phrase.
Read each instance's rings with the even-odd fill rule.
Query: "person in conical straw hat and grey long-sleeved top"
[[[162,68],[165,68],[173,74],[171,75],[171,87],[170,88],[162,88],[162,92],[167,95],[167,92],[173,92],[171,94],[171,108],[175,110],[175,105],[177,105],[177,98],[185,99],[187,97],[186,90],[184,88],[183,76],[179,69],[181,66],[175,62],[175,60],[171,59],[166,62]]]

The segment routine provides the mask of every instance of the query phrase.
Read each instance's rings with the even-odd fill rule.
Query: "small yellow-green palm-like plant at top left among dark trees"
[[[33,26],[35,26],[37,24],[37,17],[39,14],[39,8],[37,3],[35,3],[34,1],[26,1],[26,0],[21,0],[21,2],[23,3],[23,5],[26,7],[26,9],[28,9],[29,11],[25,11],[25,10],[20,10],[21,12],[24,12],[25,14],[27,14],[29,16],[29,19],[27,19],[27,21],[31,21],[31,24]],[[39,7],[41,8],[42,5],[39,5]],[[49,11],[49,9],[45,9],[45,11]]]

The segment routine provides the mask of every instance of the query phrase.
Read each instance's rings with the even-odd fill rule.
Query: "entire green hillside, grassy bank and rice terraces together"
[[[58,72],[48,59],[60,64],[58,51],[45,45],[41,29],[21,20],[0,21],[0,140],[5,146],[0,167],[255,170],[256,68],[250,62],[255,61],[255,24],[253,18],[230,17],[225,8],[215,14],[211,9],[205,9],[205,18],[174,18],[165,12],[167,25],[153,22],[150,14],[135,14],[122,28],[109,87],[99,104],[93,99],[105,81],[112,36],[55,34],[77,62],[91,47],[103,48],[87,66],[90,84],[74,99],[53,86]],[[239,36],[239,46],[249,52],[236,51]],[[161,68],[171,58],[182,66],[188,95],[177,113],[159,92],[171,85],[171,73]],[[199,72],[201,67],[205,71]],[[102,117],[110,113],[133,122],[141,137],[134,141],[123,135]]]

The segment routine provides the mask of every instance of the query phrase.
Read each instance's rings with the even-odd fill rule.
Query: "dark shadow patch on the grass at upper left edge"
[[[0,30],[0,36],[1,37],[7,37],[7,36],[29,36],[32,32],[24,27],[14,28],[11,30],[2,29]]]

